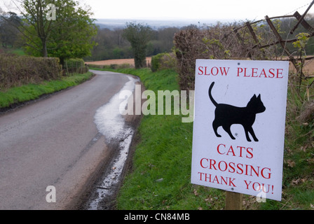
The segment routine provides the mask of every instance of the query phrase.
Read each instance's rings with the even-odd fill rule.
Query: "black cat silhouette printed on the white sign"
[[[254,124],[255,117],[257,113],[262,113],[266,110],[263,102],[261,102],[261,94],[257,97],[255,94],[247,103],[246,107],[237,107],[228,104],[217,104],[217,102],[212,97],[212,87],[214,82],[210,85],[208,94],[210,95],[210,100],[216,106],[214,111],[214,121],[212,122],[212,127],[214,129],[214,134],[217,137],[221,137],[217,133],[218,127],[222,126],[224,130],[229,134],[231,139],[235,139],[231,133],[231,125],[240,124],[245,130],[245,137],[247,141],[251,141],[249,137],[249,132],[252,135],[254,141],[259,141],[255,136],[252,125]]]

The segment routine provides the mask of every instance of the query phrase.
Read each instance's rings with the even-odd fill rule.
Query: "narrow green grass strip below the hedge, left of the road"
[[[28,84],[19,87],[11,87],[8,90],[0,90],[0,109],[6,108],[13,104],[27,102],[32,99],[38,99],[43,94],[50,94],[67,87],[78,85],[88,80],[93,73],[75,74],[62,78],[61,80],[45,81],[41,84]]]

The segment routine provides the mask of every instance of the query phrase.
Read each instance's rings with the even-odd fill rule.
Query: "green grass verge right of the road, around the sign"
[[[175,71],[117,69],[141,78],[147,90],[179,90]],[[243,209],[314,209],[313,121],[296,122],[304,101],[289,86],[282,201],[257,202],[243,195]],[[306,91],[306,90],[304,90]],[[302,95],[302,94],[299,94]],[[173,113],[172,113],[173,114]],[[223,190],[190,183],[193,123],[183,116],[144,116],[133,169],[125,177],[117,197],[117,209],[224,209]]]

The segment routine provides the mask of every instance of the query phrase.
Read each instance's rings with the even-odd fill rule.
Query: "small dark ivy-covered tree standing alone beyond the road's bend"
[[[123,36],[130,42],[134,54],[135,69],[146,65],[146,48],[151,39],[152,29],[148,25],[127,22]]]

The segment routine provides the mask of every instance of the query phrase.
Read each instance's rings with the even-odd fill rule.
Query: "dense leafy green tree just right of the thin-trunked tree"
[[[56,27],[51,30],[48,41],[48,56],[64,59],[82,58],[90,55],[93,46],[93,36],[97,34],[94,19],[90,18],[90,8],[83,9],[78,2],[59,0],[61,7],[56,13]]]

